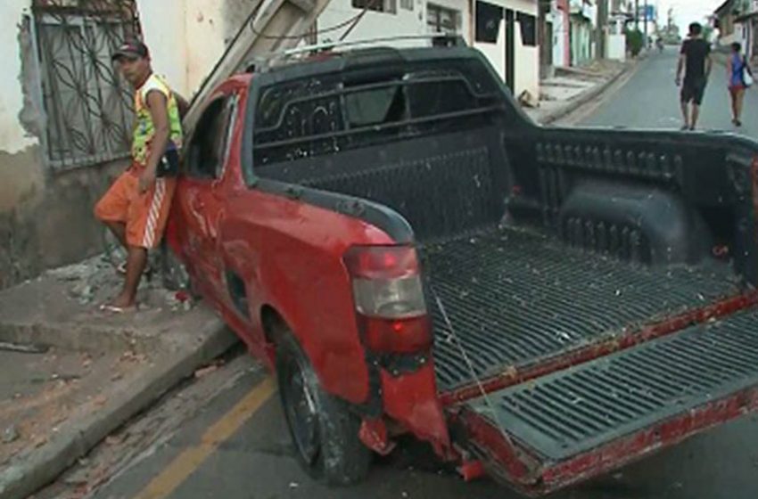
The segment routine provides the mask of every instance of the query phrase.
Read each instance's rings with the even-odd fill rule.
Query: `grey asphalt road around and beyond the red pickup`
[[[679,127],[676,53],[656,54],[616,94],[597,106],[588,125]],[[714,67],[704,102],[703,127],[731,130],[722,67]],[[721,78],[721,79],[720,79]],[[746,99],[746,126],[758,131],[758,90]],[[751,109],[754,112],[751,112]],[[235,361],[239,371],[240,363]],[[231,365],[231,364],[230,364]],[[231,376],[227,366],[213,377]],[[199,380],[197,383],[203,383]],[[96,499],[200,498],[435,498],[509,499],[519,495],[488,479],[466,484],[436,462],[425,446],[402,442],[390,458],[377,459],[365,484],[329,489],[311,481],[292,457],[275,389],[258,369],[247,369],[197,410],[177,419],[157,443],[136,453]],[[175,393],[171,397],[184,397]],[[164,402],[169,404],[170,401]],[[147,413],[144,418],[166,418]],[[143,425],[144,426],[144,425]],[[149,425],[148,425],[149,426]],[[129,428],[122,432],[128,433]],[[754,499],[758,497],[758,418],[746,417],[694,438],[610,476],[553,495],[556,499]]]

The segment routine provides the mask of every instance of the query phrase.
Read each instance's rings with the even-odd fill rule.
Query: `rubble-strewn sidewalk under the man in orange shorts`
[[[136,313],[97,310],[103,258],[0,291],[0,498],[27,497],[236,341],[205,307],[144,282]]]

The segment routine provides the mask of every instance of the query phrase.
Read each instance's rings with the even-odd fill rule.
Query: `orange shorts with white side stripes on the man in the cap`
[[[141,173],[142,167],[134,165],[122,173],[97,201],[95,217],[103,222],[123,222],[129,246],[151,249],[161,243],[177,179],[158,178],[148,192],[141,194]]]

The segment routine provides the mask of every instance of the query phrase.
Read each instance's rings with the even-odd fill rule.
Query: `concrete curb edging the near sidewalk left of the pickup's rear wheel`
[[[102,409],[72,424],[21,464],[0,471],[0,499],[23,499],[45,487],[114,429],[237,341],[216,318],[204,324],[198,336],[198,342],[177,348],[164,362],[136,377],[129,389],[112,397]]]

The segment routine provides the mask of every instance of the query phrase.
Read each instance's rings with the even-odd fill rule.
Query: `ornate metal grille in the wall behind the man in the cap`
[[[32,17],[50,167],[128,157],[132,93],[111,53],[140,34],[135,0],[33,0]]]

